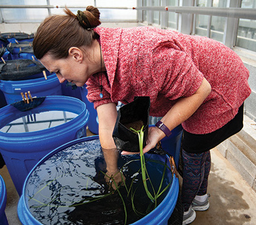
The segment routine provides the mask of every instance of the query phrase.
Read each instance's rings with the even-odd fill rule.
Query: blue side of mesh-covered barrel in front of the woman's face
[[[44,97],[47,95],[62,95],[62,89],[56,74],[44,78],[43,73],[34,75],[35,79],[25,79],[21,81],[0,80],[0,89],[5,95],[7,104],[21,101],[21,92],[30,91],[32,97]]]

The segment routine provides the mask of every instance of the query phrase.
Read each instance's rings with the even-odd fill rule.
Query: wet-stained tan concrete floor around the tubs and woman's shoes
[[[9,225],[19,225],[21,224],[17,216],[19,197],[6,166],[0,169],[0,174],[7,186],[5,213]],[[216,149],[212,150],[209,194],[211,195],[209,210],[197,212],[196,220],[191,225],[256,224],[256,192]]]

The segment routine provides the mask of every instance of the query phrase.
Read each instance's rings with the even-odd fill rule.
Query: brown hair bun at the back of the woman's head
[[[88,6],[84,12],[78,10],[76,17],[82,27],[86,29],[95,28],[101,24],[100,11],[93,6]]]

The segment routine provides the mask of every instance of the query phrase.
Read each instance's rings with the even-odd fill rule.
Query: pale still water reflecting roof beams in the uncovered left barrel
[[[0,131],[4,133],[23,133],[44,130],[66,123],[77,115],[78,114],[68,111],[44,111],[33,114],[27,111],[27,115],[14,118],[11,123],[4,124],[4,127],[2,127]]]

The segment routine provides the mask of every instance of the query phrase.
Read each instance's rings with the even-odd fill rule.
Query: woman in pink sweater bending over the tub
[[[112,138],[118,101],[149,96],[150,114],[162,117],[149,129],[143,152],[182,124],[183,224],[191,223],[193,208],[209,207],[210,149],[242,128],[243,102],[251,93],[248,70],[231,49],[206,37],[153,27],[97,27],[100,12],[94,7],[65,12],[42,22],[34,54],[60,82],[87,83],[110,174],[119,174]]]

